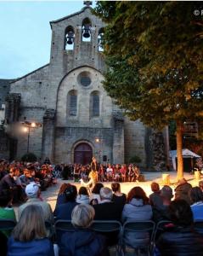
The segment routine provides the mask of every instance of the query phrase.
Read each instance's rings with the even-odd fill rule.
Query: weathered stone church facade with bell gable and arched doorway
[[[151,131],[124,117],[102,85],[102,20],[86,6],[50,26],[50,62],[10,84],[8,124],[42,124],[29,135],[29,151],[41,160],[86,164],[96,155],[100,162],[127,163],[137,155],[141,166],[150,166]],[[20,159],[27,136],[14,132]]]

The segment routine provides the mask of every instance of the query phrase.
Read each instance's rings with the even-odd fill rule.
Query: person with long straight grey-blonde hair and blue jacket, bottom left
[[[54,256],[54,246],[46,237],[42,207],[25,207],[8,239],[7,256]]]

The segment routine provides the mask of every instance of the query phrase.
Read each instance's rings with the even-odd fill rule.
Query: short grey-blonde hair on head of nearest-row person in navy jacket
[[[88,228],[93,222],[94,214],[93,207],[87,204],[79,204],[72,211],[71,223],[76,227]]]

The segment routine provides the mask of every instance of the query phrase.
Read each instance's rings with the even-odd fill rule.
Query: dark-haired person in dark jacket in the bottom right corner
[[[189,204],[184,200],[172,201],[169,214],[173,225],[156,242],[161,256],[203,255],[203,236],[192,229],[193,213]]]

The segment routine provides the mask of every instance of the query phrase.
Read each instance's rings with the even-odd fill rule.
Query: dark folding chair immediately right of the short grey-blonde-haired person
[[[116,255],[121,254],[122,225],[116,220],[94,220],[90,227],[96,233],[105,236],[107,246],[116,247]]]

